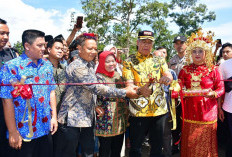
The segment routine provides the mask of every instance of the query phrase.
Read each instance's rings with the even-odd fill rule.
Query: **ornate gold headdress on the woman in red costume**
[[[192,63],[192,50],[196,47],[199,47],[205,51],[205,63],[206,66],[211,69],[213,66],[212,47],[215,45],[216,41],[213,41],[214,33],[211,31],[207,32],[206,36],[203,35],[204,33],[200,28],[197,33],[192,33],[191,36],[188,37],[186,42],[186,62],[188,65]]]

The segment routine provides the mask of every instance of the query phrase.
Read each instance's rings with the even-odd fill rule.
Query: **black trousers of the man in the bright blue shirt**
[[[52,156],[51,134],[23,142],[22,148],[16,150],[10,148],[9,157],[51,157]]]

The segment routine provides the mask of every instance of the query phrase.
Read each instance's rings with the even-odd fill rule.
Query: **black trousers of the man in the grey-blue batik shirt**
[[[94,130],[92,127],[78,128],[59,124],[54,137],[55,157],[77,157],[78,142],[81,145],[82,157],[93,157]]]

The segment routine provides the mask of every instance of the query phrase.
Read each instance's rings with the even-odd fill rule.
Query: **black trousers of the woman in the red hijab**
[[[98,137],[100,157],[120,157],[124,134],[112,137]]]

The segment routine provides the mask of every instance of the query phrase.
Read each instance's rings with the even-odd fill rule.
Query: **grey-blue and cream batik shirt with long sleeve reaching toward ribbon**
[[[96,95],[106,97],[125,97],[124,89],[111,88],[97,83],[94,63],[87,62],[77,56],[77,59],[66,68],[68,83],[90,83],[89,85],[67,86],[60,111],[59,123],[67,123],[72,127],[91,127],[94,119]]]

